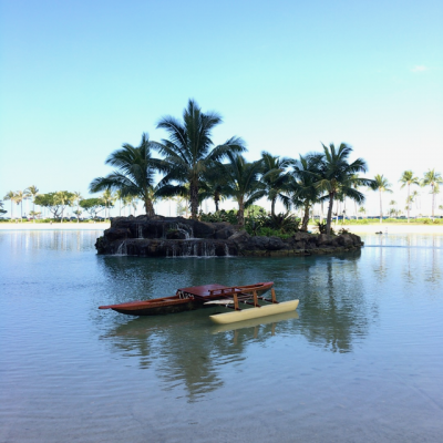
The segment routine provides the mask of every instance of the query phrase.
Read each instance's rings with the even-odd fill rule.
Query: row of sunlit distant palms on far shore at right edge
[[[406,187],[408,188],[408,197],[406,197],[406,206],[405,210],[408,214],[408,223],[410,219],[410,210],[411,210],[411,204],[414,202],[414,199],[418,197],[418,193],[414,192],[411,194],[411,185],[415,186],[431,186],[431,194],[432,194],[432,218],[435,216],[435,195],[440,193],[440,185],[443,183],[442,175],[435,169],[429,169],[426,173],[424,173],[423,178],[420,179],[414,175],[412,171],[404,171],[402,176],[399,179],[399,183],[401,183],[401,188]],[[375,175],[373,184],[371,185],[371,189],[378,190],[380,195],[380,223],[382,222],[383,218],[383,207],[382,207],[382,194],[383,193],[389,193],[392,194],[392,188],[391,188],[391,183],[389,183],[388,178],[384,177],[383,175]],[[391,200],[390,203],[391,206],[395,205],[395,202]]]

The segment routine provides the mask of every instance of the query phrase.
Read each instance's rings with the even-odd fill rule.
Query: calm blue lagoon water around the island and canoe
[[[0,231],[0,442],[442,440],[443,236],[363,236],[336,257],[148,259],[97,256],[100,234]],[[264,280],[299,298],[297,313],[229,329],[210,323],[217,308],[97,309]]]

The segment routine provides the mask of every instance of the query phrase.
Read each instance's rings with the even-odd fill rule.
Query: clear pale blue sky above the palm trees
[[[30,185],[87,197],[111,152],[165,137],[156,122],[189,97],[223,115],[215,143],[239,135],[250,161],[349,143],[400,207],[403,171],[443,173],[441,0],[0,6],[0,198]]]

